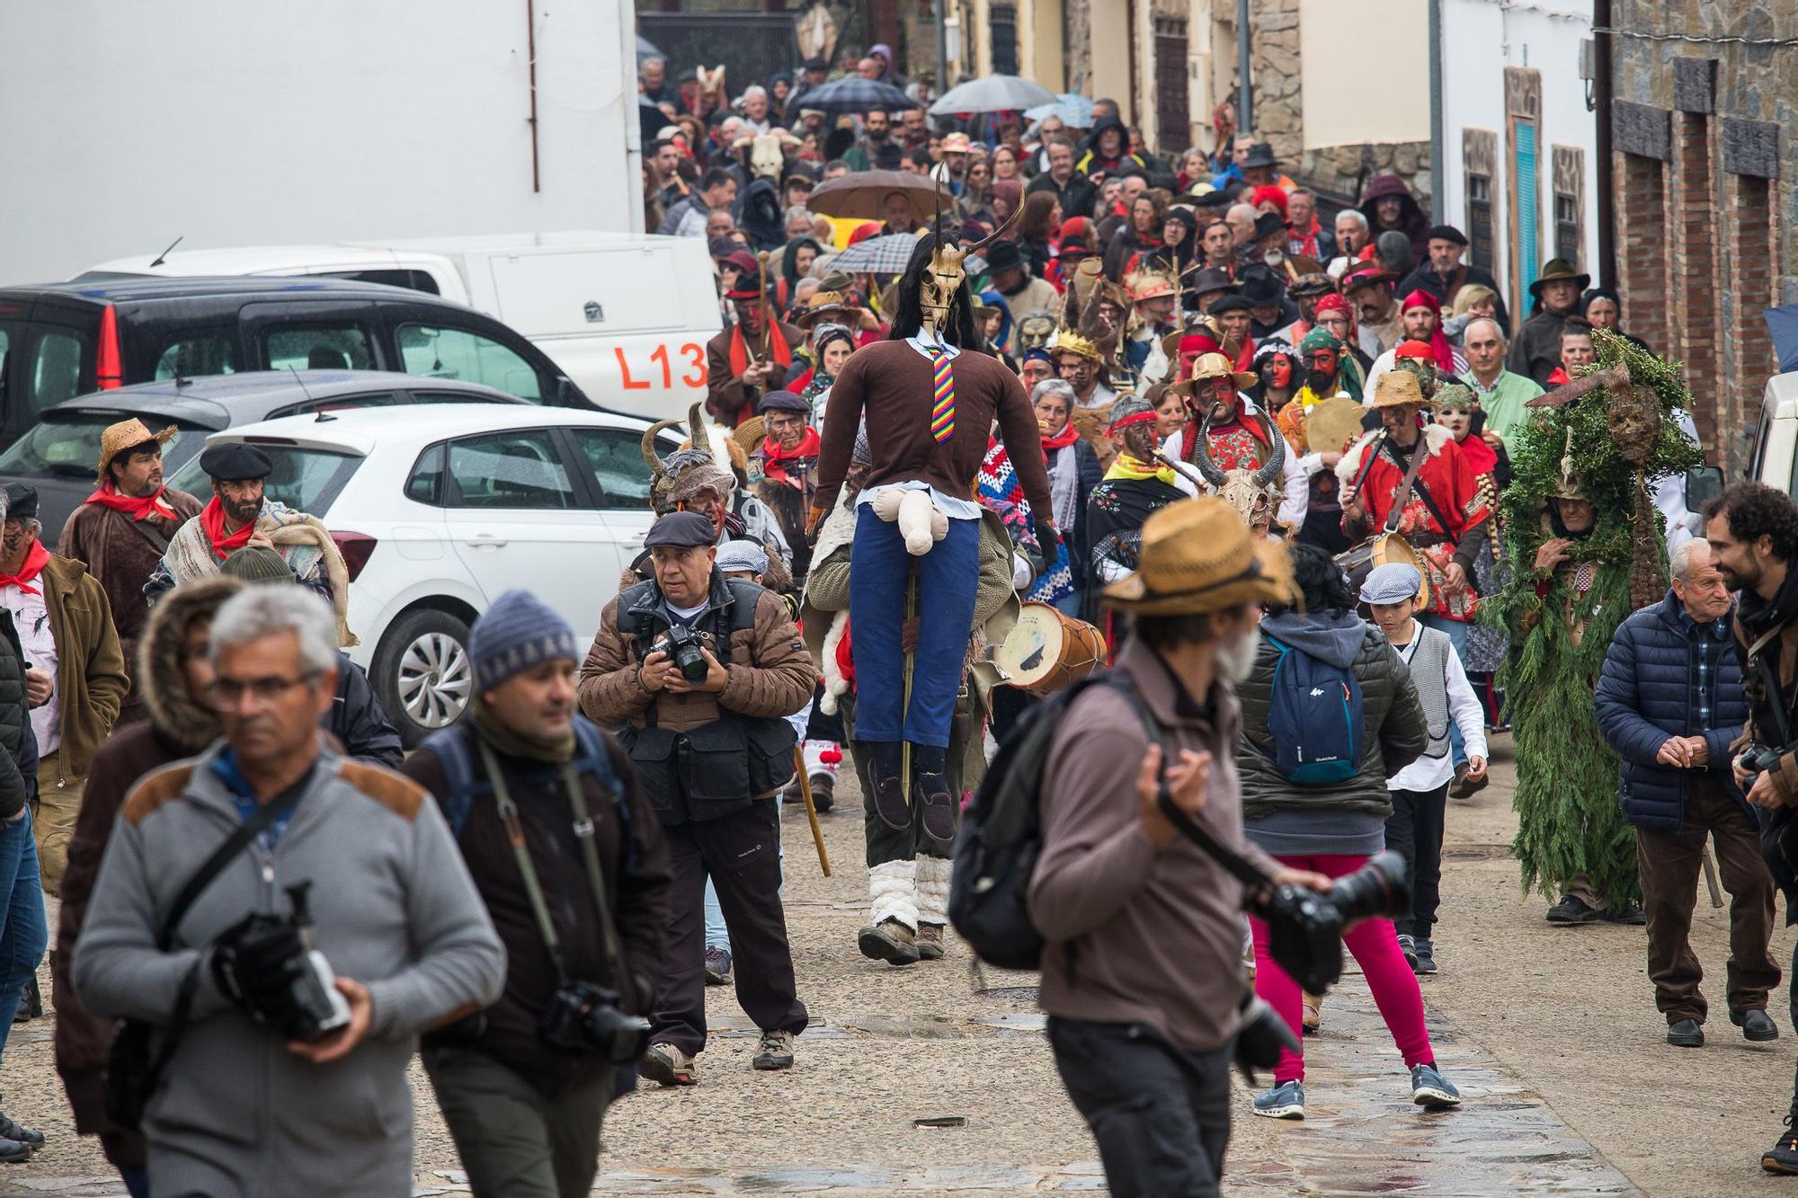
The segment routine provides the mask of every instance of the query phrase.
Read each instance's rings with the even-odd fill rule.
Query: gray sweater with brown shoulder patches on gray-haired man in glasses
[[[198,989],[149,1101],[158,1194],[408,1194],[417,1034],[493,1004],[505,950],[437,804],[410,779],[322,752],[268,876],[230,862],[160,952],[164,912],[243,820],[210,764],[223,743],[131,788],[76,943],[74,984],[101,1018],[167,1024],[182,979]],[[286,912],[309,880],[316,946],[374,1000],[367,1038],[329,1065],[291,1054],[212,982],[209,944],[252,910]]]

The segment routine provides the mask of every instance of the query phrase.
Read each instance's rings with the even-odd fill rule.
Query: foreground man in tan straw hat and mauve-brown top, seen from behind
[[[1179,811],[1273,881],[1329,889],[1242,844],[1235,682],[1255,660],[1257,604],[1286,599],[1286,550],[1251,540],[1224,500],[1149,516],[1138,572],[1102,592],[1131,617],[1113,678],[1135,702],[1081,691],[1043,766],[1028,890],[1041,1004],[1113,1194],[1215,1194],[1230,1140],[1242,883],[1162,813],[1158,772]]]

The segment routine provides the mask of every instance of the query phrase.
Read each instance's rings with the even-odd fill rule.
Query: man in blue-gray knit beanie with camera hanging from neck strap
[[[437,795],[505,943],[505,993],[424,1038],[476,1194],[586,1194],[613,1068],[649,1038],[669,863],[624,752],[575,712],[574,630],[523,590],[469,631],[469,718],[405,773]]]

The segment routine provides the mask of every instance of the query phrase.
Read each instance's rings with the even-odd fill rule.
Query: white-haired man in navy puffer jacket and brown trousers
[[[1748,1040],[1776,1040],[1766,1011],[1780,984],[1767,952],[1773,876],[1760,860],[1760,820],[1730,777],[1730,743],[1748,720],[1730,586],[1701,540],[1674,549],[1670,570],[1667,597],[1618,626],[1597,694],[1598,729],[1624,757],[1654,1006],[1667,1016],[1667,1043],[1705,1043],[1705,971],[1688,937],[1705,842],[1715,840],[1730,890],[1730,1022]]]

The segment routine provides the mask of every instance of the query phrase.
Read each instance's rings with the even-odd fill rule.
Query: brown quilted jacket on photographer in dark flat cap
[[[712,723],[721,709],[779,720],[791,716],[811,698],[818,682],[811,655],[806,653],[788,606],[771,590],[759,594],[753,626],[730,633],[730,657],[719,657],[728,678],[717,694],[699,691],[669,694],[644,689],[638,667],[647,651],[638,653],[638,639],[619,630],[620,603],[642,615],[654,628],[654,635],[667,630],[667,617],[660,612],[662,588],[653,581],[638,583],[606,604],[599,617],[599,635],[593,637],[593,648],[581,666],[581,711],[593,723],[642,729],[647,725],[649,707],[654,705],[658,727],[683,732]],[[712,572],[710,603],[714,610],[735,603],[717,570]],[[701,628],[708,626],[708,615],[699,617]]]

